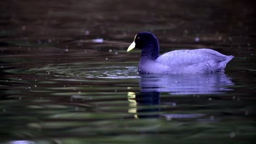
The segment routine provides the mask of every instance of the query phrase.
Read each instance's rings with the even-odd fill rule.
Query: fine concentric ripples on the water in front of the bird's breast
[[[48,64],[42,68],[28,69],[25,73],[33,71],[37,75],[53,75],[56,79],[136,79],[137,67],[130,64],[118,63],[66,63]]]

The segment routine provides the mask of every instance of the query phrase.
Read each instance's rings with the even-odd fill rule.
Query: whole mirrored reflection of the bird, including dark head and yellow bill
[[[141,75],[139,87],[141,92],[128,93],[129,112],[135,118],[160,116],[160,92],[170,95],[179,94],[222,94],[232,91],[234,85],[224,73],[202,75]],[[174,103],[175,104],[175,103]],[[183,115],[191,116],[194,115]],[[196,114],[196,116],[201,116]],[[168,116],[166,116],[168,117]],[[179,117],[179,116],[175,116]]]

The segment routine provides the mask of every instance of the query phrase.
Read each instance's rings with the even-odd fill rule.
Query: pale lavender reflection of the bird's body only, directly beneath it
[[[235,85],[224,73],[202,75],[143,75],[139,80],[142,92],[170,94],[221,94]]]

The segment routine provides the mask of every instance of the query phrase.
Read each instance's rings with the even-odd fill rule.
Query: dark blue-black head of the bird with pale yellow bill
[[[127,51],[131,51],[135,47],[141,49],[141,56],[147,56],[152,59],[156,59],[159,56],[158,39],[150,32],[138,33]]]

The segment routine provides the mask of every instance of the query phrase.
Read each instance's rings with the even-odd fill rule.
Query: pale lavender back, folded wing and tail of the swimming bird
[[[233,57],[210,49],[176,50],[164,53],[156,62],[167,65],[170,73],[213,73],[223,71]]]

